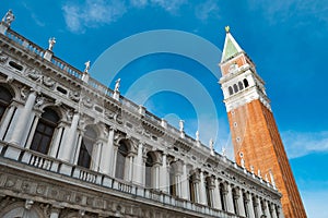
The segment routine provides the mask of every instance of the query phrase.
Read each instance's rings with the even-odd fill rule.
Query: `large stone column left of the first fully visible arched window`
[[[20,110],[20,112],[17,113],[15,123],[12,126],[12,130],[14,130],[14,133],[11,135],[9,143],[13,143],[13,144],[23,146],[21,144],[21,141],[22,141],[23,134],[26,131],[26,128],[27,128],[26,125],[30,121],[28,118],[31,117],[35,99],[36,99],[36,93],[32,92],[26,99],[24,108],[22,108]]]

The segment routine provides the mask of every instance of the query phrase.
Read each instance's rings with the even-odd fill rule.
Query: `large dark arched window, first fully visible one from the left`
[[[50,143],[54,136],[55,129],[57,128],[59,116],[50,108],[45,108],[31,143],[31,149],[48,154]]]

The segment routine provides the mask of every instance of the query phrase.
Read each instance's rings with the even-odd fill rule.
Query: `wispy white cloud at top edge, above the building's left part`
[[[83,4],[67,3],[62,10],[68,28],[74,33],[83,33],[85,27],[110,24],[127,11],[125,3],[119,0],[86,0]]]

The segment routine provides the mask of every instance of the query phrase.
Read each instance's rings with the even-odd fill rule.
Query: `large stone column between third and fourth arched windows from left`
[[[99,171],[113,177],[114,171],[114,133],[115,129],[110,128],[108,132],[107,143],[103,146],[102,161]]]

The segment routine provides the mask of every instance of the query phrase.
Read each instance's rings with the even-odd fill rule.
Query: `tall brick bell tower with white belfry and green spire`
[[[285,218],[306,218],[273,114],[265,82],[255,64],[226,27],[220,63],[224,104],[227,111],[236,162],[282,193]]]

